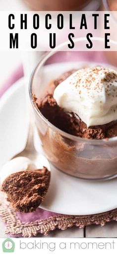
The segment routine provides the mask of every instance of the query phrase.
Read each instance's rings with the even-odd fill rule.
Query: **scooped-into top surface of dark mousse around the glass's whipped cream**
[[[76,114],[66,112],[58,106],[53,97],[54,90],[59,83],[75,71],[75,69],[72,69],[64,72],[57,79],[51,81],[43,95],[38,99],[33,95],[38,109],[49,122],[69,134],[88,139],[104,139],[117,136],[117,121],[112,121],[101,126],[87,127]]]

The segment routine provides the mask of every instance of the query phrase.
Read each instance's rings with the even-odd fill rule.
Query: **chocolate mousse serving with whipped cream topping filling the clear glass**
[[[109,139],[117,136],[116,70],[73,69],[36,96],[32,95],[37,130],[57,169],[85,179],[117,175],[117,140]]]

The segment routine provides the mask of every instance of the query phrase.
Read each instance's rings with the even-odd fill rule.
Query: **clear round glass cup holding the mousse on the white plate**
[[[96,140],[68,134],[52,125],[35,103],[33,94],[37,98],[41,97],[49,82],[58,78],[64,71],[87,65],[94,66],[97,64],[94,63],[94,55],[102,55],[101,52],[63,52],[63,49],[64,46],[60,45],[59,52],[48,52],[41,59],[29,84],[35,124],[43,150],[56,168],[69,175],[89,180],[114,178],[117,176],[117,137]]]

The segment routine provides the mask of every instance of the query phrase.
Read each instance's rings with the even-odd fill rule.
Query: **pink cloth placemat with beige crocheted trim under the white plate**
[[[85,61],[87,59],[87,61],[106,63],[106,59],[102,52],[84,52],[83,55]],[[63,53],[59,56],[59,61],[60,60],[63,60]],[[76,61],[80,60],[83,60],[82,53],[76,56]],[[56,61],[58,62],[58,60]],[[0,96],[22,76],[23,66],[21,64],[1,87]],[[15,212],[12,206],[6,202],[4,196],[2,196],[2,193],[0,193],[0,216],[5,225],[5,233],[8,236],[31,237],[37,236],[39,233],[47,235],[56,228],[64,230],[72,226],[82,228],[91,224],[105,225],[106,222],[111,220],[117,221],[117,209],[95,215],[72,216],[57,214],[37,208],[37,210],[33,213],[24,214]]]

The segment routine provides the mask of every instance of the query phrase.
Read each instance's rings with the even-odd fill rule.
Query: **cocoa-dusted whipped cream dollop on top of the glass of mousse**
[[[110,123],[117,120],[117,71],[102,66],[79,69],[56,87],[54,98],[87,127]]]

